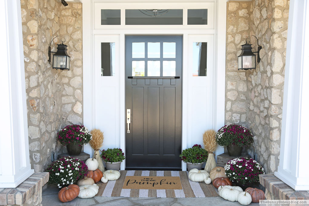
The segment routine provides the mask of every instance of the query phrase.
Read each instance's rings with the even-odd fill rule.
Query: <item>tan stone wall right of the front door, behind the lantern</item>
[[[267,173],[277,170],[280,152],[284,68],[289,1],[227,2],[226,124],[242,124],[253,133],[247,148]],[[255,70],[237,70],[245,39],[255,35],[262,46]],[[248,38],[256,51],[254,37]]]

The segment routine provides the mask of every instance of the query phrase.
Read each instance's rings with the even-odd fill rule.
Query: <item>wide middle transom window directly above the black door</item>
[[[182,9],[126,9],[125,24],[182,25],[182,16]]]

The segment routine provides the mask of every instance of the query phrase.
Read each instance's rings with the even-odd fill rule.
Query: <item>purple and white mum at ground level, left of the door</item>
[[[74,184],[88,173],[87,165],[78,158],[70,156],[52,162],[45,172],[49,172],[49,184],[57,184],[59,188]]]

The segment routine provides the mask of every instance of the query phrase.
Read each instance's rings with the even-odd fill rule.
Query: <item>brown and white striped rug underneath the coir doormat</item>
[[[105,197],[216,197],[212,184],[193,182],[188,179],[187,171],[141,171],[121,170],[120,178],[107,183],[98,182],[99,192],[96,196]],[[182,189],[123,189],[126,176],[170,176],[180,177]]]

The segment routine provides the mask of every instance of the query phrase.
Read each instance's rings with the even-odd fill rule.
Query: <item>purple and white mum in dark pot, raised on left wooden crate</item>
[[[65,145],[70,155],[79,155],[82,151],[83,144],[91,140],[91,133],[84,125],[68,125],[62,128],[57,138],[61,145]]]

